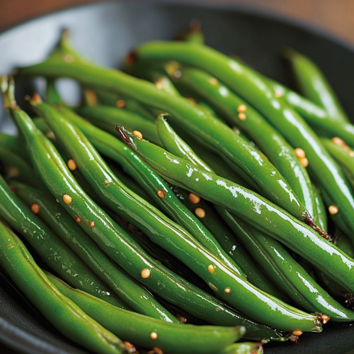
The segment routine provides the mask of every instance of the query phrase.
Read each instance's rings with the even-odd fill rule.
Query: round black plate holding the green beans
[[[151,39],[171,39],[187,28],[190,19],[201,21],[207,44],[242,57],[252,67],[292,86],[283,47],[293,47],[314,59],[327,75],[344,108],[354,114],[354,50],[308,25],[294,24],[240,7],[171,2],[104,2],[70,8],[36,18],[0,35],[0,73],[41,61],[69,27],[74,45],[94,61],[117,66],[135,45]],[[76,87],[63,82],[67,101],[75,100]],[[41,81],[21,87],[22,93],[41,90]],[[13,126],[0,112],[0,129]],[[21,353],[83,353],[67,341],[19,293],[0,278],[0,342]],[[270,343],[265,353],[346,353],[354,348],[354,326],[327,324],[324,331],[304,333],[297,344]],[[2,347],[0,344],[0,352]],[[182,354],[182,353],[181,353]]]

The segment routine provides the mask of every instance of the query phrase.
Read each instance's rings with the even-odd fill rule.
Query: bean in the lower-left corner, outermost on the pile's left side
[[[118,337],[86,315],[48,280],[21,240],[1,222],[0,265],[64,336],[98,354],[126,353]]]

